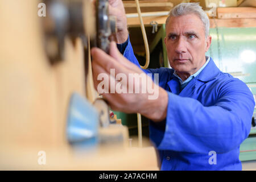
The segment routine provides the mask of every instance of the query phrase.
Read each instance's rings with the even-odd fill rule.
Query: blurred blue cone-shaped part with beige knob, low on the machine
[[[96,147],[98,144],[125,144],[128,130],[122,125],[110,125],[109,106],[102,99],[90,104],[73,93],[67,116],[67,140],[73,147]]]

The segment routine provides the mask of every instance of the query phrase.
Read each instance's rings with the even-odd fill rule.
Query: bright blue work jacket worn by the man
[[[129,39],[123,55],[139,67]],[[150,121],[160,169],[241,170],[240,144],[250,133],[255,106],[247,85],[221,72],[212,59],[183,90],[174,69],[144,72],[159,73],[159,86],[168,93],[166,119]]]

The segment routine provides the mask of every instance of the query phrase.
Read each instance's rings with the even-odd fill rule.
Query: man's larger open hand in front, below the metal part
[[[110,44],[110,55],[98,48],[92,49],[92,68],[93,68],[93,80],[94,87],[98,90],[98,84],[102,82],[101,78],[98,79],[100,73],[107,75],[109,85],[104,85],[105,93],[102,96],[109,102],[110,107],[113,110],[123,111],[125,113],[141,113],[147,118],[153,121],[162,121],[166,118],[167,105],[168,105],[168,94],[166,90],[160,88],[160,86],[154,84],[152,79],[146,75],[140,68],[135,64],[131,63],[125,57],[119,53],[116,44],[112,42]],[[114,75],[111,75],[110,69],[114,69]],[[122,75],[123,78],[127,78],[127,84],[123,81],[123,78],[117,78],[117,75]],[[129,83],[129,74],[133,74],[135,80],[139,75],[144,74],[147,77],[147,81],[133,81],[132,85]],[[142,75],[143,76],[143,75]],[[105,81],[106,77],[104,77]],[[138,78],[140,80],[140,78]],[[123,83],[123,87],[127,88],[127,93],[114,93],[111,92],[111,88],[116,88],[117,84]],[[133,92],[129,93],[129,88]],[[154,100],[150,100],[152,93],[146,90],[146,93],[135,93],[134,89],[139,88],[154,88],[158,92],[158,97]]]

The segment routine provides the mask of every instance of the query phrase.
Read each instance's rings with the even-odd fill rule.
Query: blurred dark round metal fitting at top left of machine
[[[84,1],[43,0],[47,7],[43,18],[44,47],[49,61],[54,64],[64,60],[64,39],[80,37],[85,48],[88,40],[84,26]]]

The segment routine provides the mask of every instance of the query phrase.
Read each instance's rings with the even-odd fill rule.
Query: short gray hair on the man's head
[[[204,23],[205,38],[207,38],[209,35],[210,22],[207,14],[204,12],[199,3],[180,3],[179,5],[175,6],[173,9],[171,9],[168,18],[166,19],[166,25],[172,16],[175,17],[188,14],[196,14],[199,16],[201,21]]]

